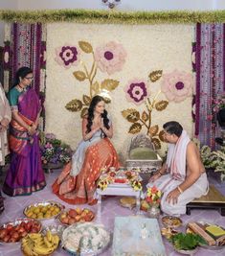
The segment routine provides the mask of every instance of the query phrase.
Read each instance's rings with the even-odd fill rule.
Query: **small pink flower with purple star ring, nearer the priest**
[[[142,104],[146,101],[146,98],[148,97],[145,80],[129,81],[124,88],[124,91],[127,100],[133,102],[136,105]]]

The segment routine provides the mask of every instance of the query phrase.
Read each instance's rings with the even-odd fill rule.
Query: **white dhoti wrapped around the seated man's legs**
[[[163,175],[155,182],[148,183],[147,187],[156,186],[159,190],[163,192],[163,197],[161,198],[161,210],[168,215],[181,215],[186,213],[186,205],[191,202],[194,198],[200,198],[206,195],[209,190],[209,182],[207,175],[202,174],[195,183],[191,185],[190,188],[185,190],[177,200],[176,204],[168,202],[166,199],[173,189],[177,188],[183,181],[173,179],[171,175]]]

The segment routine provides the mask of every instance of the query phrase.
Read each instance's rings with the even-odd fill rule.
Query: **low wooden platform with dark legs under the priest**
[[[225,216],[225,197],[211,185],[206,196],[193,199],[187,204],[186,214],[191,215],[192,209],[217,209],[221,216]]]

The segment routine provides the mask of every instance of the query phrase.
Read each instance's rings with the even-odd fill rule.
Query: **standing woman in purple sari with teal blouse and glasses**
[[[37,131],[41,106],[30,86],[32,81],[32,69],[21,67],[8,95],[12,113],[9,137],[12,154],[3,192],[11,197],[31,195],[46,185]]]

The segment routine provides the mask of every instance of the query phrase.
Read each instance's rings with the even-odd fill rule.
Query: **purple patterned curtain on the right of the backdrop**
[[[214,106],[225,93],[225,25],[197,24],[192,51],[196,74],[195,135],[201,145],[214,149],[214,138],[220,134]]]

